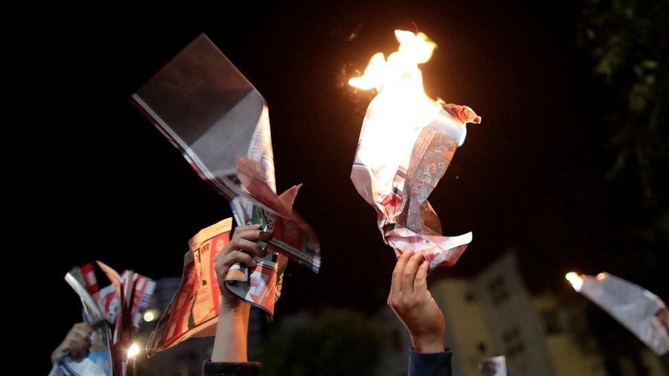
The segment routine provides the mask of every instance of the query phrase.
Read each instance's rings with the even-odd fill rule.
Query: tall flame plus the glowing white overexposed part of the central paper
[[[378,90],[365,114],[367,125],[363,123],[361,130],[366,150],[358,151],[358,157],[367,165],[378,166],[374,172],[380,181],[393,180],[406,153],[411,153],[411,140],[415,140],[424,127],[435,123],[435,119],[465,129],[461,123],[447,119],[448,116],[440,116],[441,102],[430,99],[423,88],[418,64],[430,60],[437,45],[422,33],[396,30],[395,36],[400,42],[397,51],[387,59],[383,53],[376,53],[365,73],[348,82],[363,90]],[[458,136],[464,136],[464,131]]]

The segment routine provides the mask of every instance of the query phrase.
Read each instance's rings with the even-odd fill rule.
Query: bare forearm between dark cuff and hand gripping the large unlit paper
[[[239,308],[225,309],[221,306],[216,325],[212,362],[247,362],[247,334],[251,306],[247,303]]]

